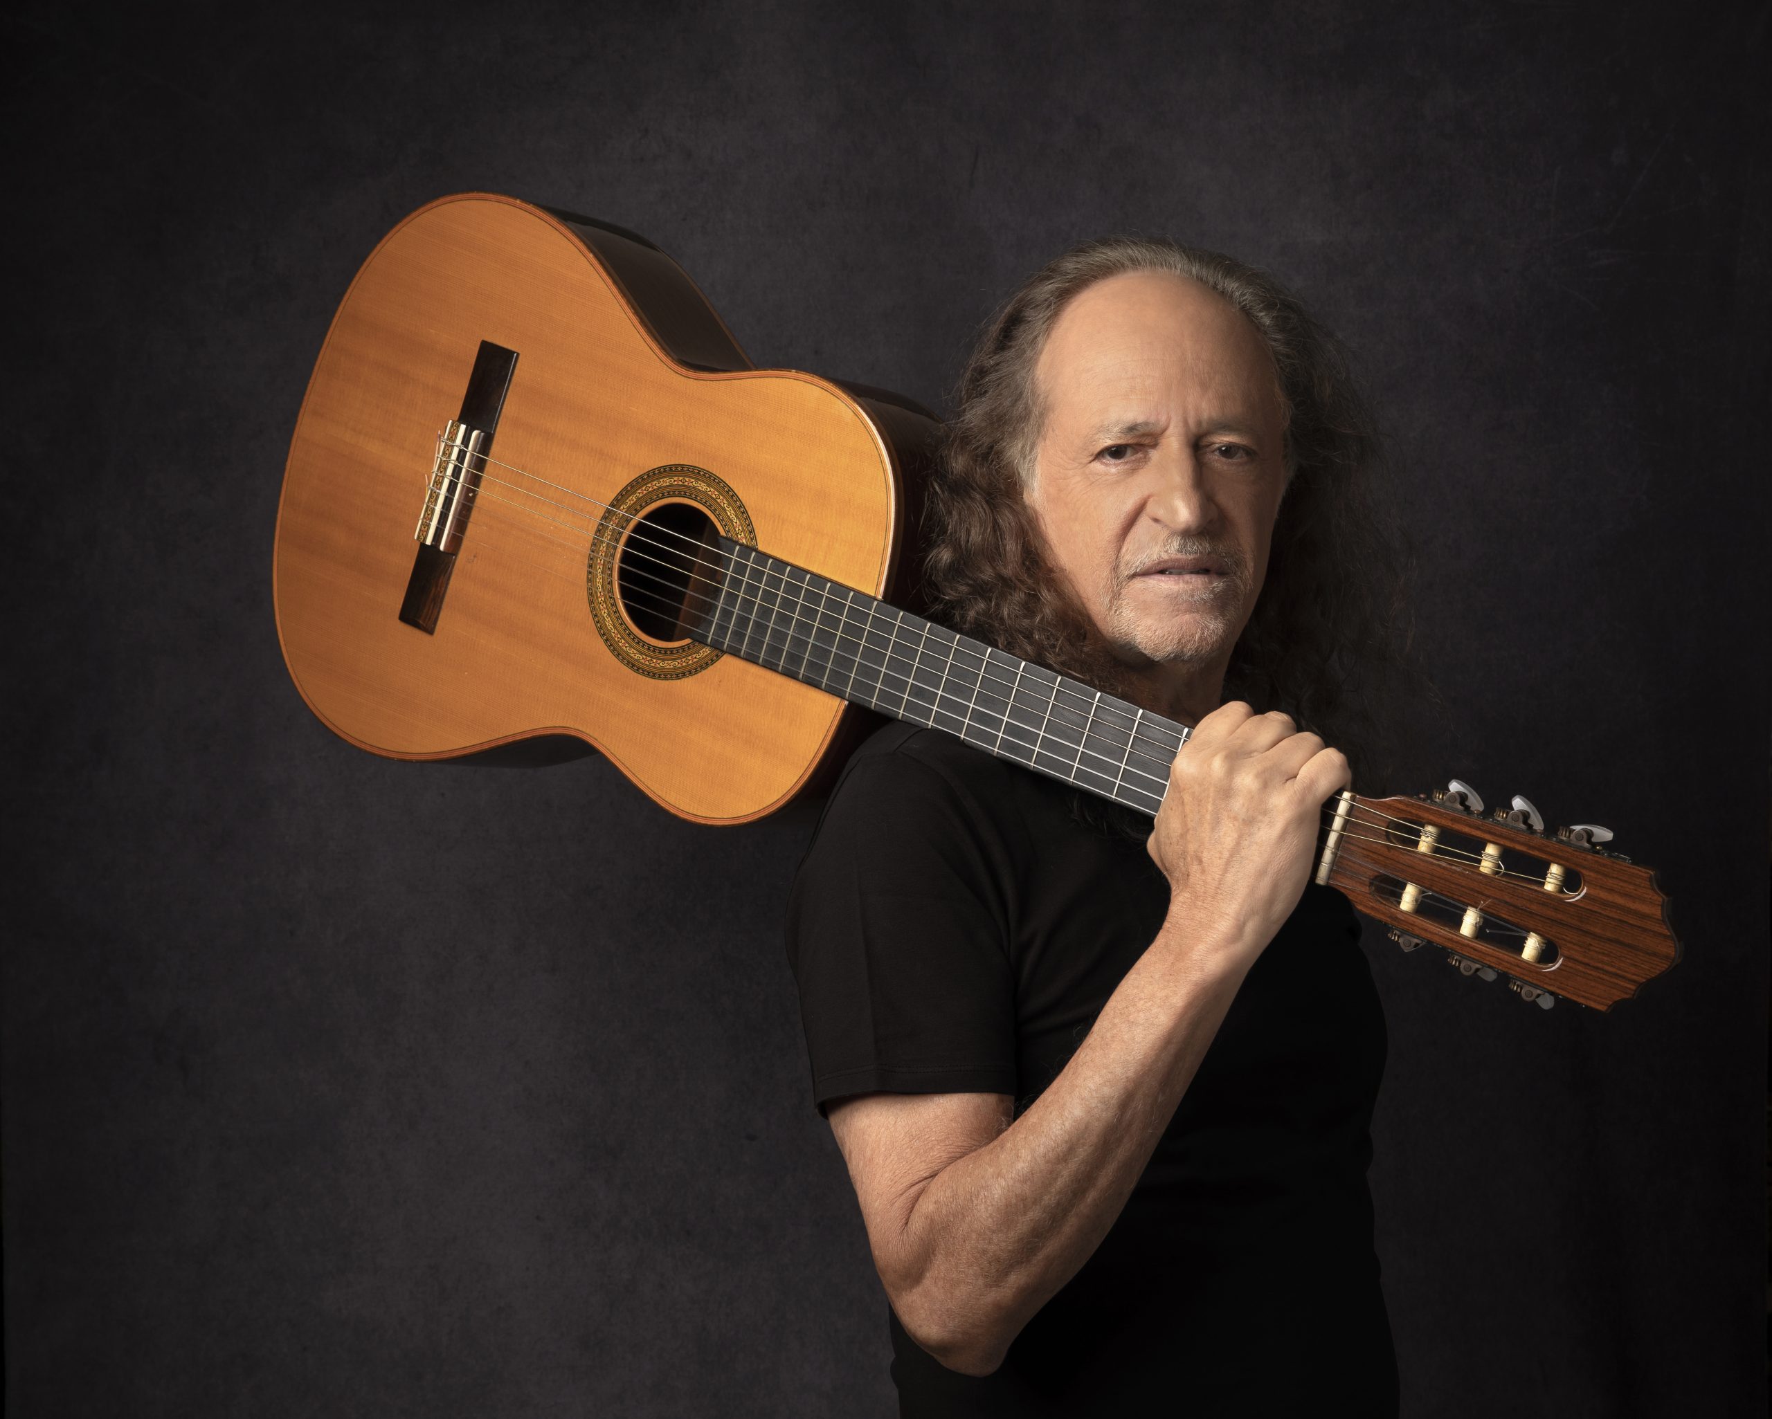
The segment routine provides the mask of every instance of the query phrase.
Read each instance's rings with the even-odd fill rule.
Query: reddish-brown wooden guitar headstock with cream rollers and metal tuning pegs
[[[1423,797],[1324,804],[1317,880],[1391,928],[1442,946],[1465,974],[1504,974],[1524,999],[1611,1010],[1680,960],[1655,873],[1593,824],[1547,833],[1526,799],[1485,811],[1453,779]]]

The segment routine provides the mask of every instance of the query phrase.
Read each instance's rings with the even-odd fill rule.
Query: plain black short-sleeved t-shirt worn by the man
[[[1006,1093],[1021,1114],[1152,942],[1168,884],[1076,790],[891,725],[794,882],[789,958],[822,1109]],[[1246,976],[1125,1210],[985,1378],[890,1316],[900,1412],[1396,1412],[1372,1247],[1384,1015],[1325,888]]]

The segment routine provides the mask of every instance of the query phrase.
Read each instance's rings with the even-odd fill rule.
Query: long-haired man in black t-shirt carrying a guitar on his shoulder
[[[932,491],[957,629],[1194,725],[1148,840],[930,730],[854,756],[789,948],[907,1415],[1395,1414],[1368,1125],[1384,1020],[1306,886],[1373,602],[1368,439],[1297,301],[1079,248],[985,333]],[[1338,547],[1338,542],[1343,544]],[[1265,588],[1265,595],[1263,595]]]

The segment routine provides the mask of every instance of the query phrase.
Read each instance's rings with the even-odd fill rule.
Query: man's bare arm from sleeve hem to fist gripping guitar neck
[[[1232,703],[1177,755],[1150,856],[1157,939],[1021,1118],[1006,1095],[831,1109],[886,1295],[950,1369],[989,1375],[1125,1206],[1237,989],[1297,905],[1347,760]]]

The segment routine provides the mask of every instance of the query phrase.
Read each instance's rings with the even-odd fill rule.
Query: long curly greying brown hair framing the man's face
[[[1265,271],[1171,241],[1090,241],[1037,271],[989,321],[948,420],[925,507],[930,609],[1022,659],[1120,693],[1125,671],[1058,574],[1024,489],[1042,407],[1035,367],[1084,289],[1168,271],[1216,291],[1260,331],[1286,416],[1288,484],[1267,581],[1226,673],[1226,698],[1281,709],[1370,758],[1373,689],[1407,641],[1398,537],[1375,492],[1380,450],[1340,344]]]

